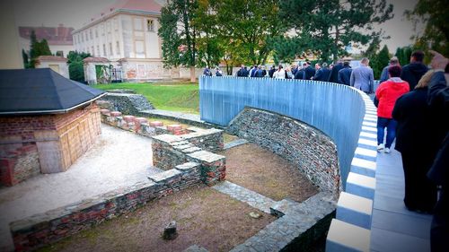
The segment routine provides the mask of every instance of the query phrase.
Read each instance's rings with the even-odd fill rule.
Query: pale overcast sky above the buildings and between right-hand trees
[[[238,1],[238,0],[236,0]],[[116,0],[16,0],[15,15],[18,26],[65,26],[80,28],[96,13],[106,9]],[[379,28],[391,39],[383,41],[392,53],[396,48],[412,44],[409,39],[414,33],[412,24],[405,19],[403,13],[411,9],[418,0],[387,0],[394,5],[394,18],[384,22]]]

